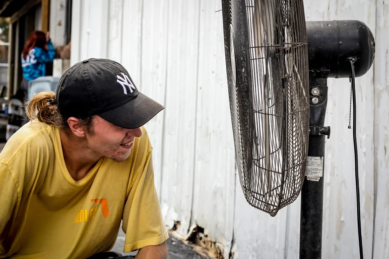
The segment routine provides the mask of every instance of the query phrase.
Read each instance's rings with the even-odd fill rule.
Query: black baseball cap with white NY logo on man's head
[[[65,118],[98,115],[126,129],[141,127],[164,109],[138,91],[121,64],[102,58],[86,59],[64,72],[55,99]]]

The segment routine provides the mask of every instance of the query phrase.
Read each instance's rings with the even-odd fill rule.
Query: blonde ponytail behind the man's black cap
[[[54,92],[42,92],[34,95],[28,103],[27,116],[31,121],[38,119],[54,127],[62,126],[62,118],[57,110]]]

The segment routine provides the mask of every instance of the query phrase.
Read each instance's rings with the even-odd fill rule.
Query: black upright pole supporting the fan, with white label
[[[312,175],[312,177],[305,177],[301,190],[300,259],[321,258],[324,154],[326,137],[330,135],[330,128],[324,127],[327,92],[327,78],[309,79],[310,106],[307,167],[310,167],[312,170],[307,174]]]

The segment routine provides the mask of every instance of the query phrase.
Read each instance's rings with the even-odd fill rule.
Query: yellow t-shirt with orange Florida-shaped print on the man
[[[0,258],[86,258],[109,251],[123,220],[124,251],[168,238],[154,186],[147,131],[123,162],[102,157],[69,175],[59,131],[37,120],[0,153]]]

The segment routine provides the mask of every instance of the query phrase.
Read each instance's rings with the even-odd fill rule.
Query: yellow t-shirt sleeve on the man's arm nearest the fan
[[[127,199],[122,213],[122,229],[126,233],[123,251],[131,252],[143,248],[143,252],[147,252],[157,247],[158,252],[159,249],[166,249],[164,241],[169,235],[154,185],[152,147],[145,128],[142,128],[142,137],[135,143],[134,148],[132,152],[136,159],[132,165]],[[159,246],[160,244],[163,245]]]

